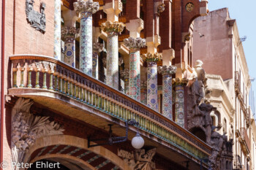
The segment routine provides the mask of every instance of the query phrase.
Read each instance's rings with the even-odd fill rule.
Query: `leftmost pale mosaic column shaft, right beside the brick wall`
[[[54,58],[61,60],[61,0],[54,0]]]

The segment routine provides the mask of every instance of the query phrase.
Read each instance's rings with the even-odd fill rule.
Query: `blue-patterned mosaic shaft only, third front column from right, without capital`
[[[147,105],[151,109],[158,112],[158,101],[157,101],[157,63],[148,62],[148,95],[147,95]]]

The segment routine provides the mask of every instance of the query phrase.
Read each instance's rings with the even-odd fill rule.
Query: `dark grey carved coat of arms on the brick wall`
[[[34,10],[34,0],[26,0],[26,19],[31,24],[31,27],[45,33],[45,3],[41,4],[41,13]]]

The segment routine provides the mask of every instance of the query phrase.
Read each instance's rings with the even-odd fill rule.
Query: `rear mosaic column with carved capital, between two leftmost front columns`
[[[67,26],[64,26],[61,28],[61,35],[65,42],[64,62],[72,67],[75,67],[75,36],[78,32],[79,30],[75,27],[67,28]]]

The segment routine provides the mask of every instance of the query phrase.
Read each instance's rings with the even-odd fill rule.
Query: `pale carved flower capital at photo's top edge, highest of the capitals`
[[[74,9],[77,15],[80,12],[91,12],[94,14],[99,10],[99,2],[78,0],[78,2],[74,2]]]

